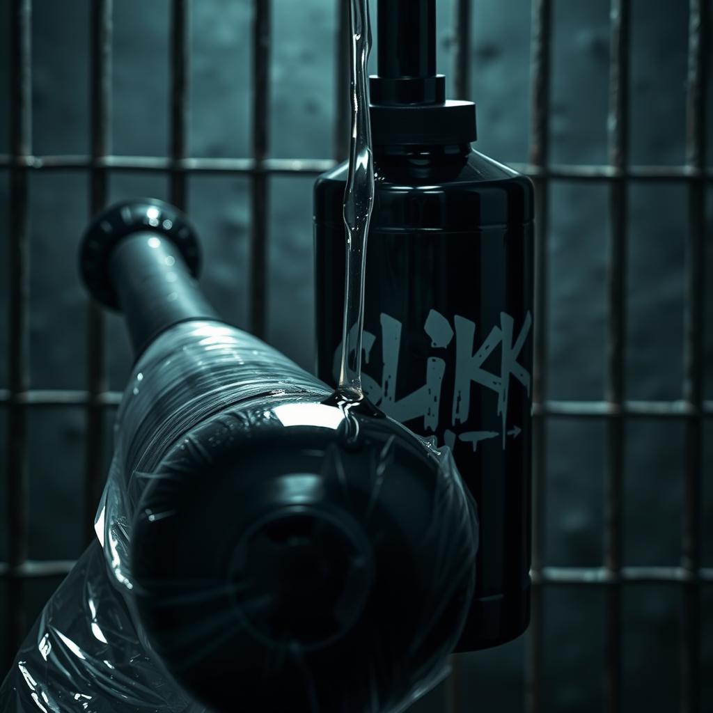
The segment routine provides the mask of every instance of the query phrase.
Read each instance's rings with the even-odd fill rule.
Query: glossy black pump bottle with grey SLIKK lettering
[[[530,616],[533,188],[471,148],[475,106],[445,101],[435,0],[380,0],[371,77],[376,195],[366,257],[363,383],[416,433],[453,448],[480,512],[476,594],[456,651],[520,635]],[[317,373],[342,341],[347,164],[314,190]]]

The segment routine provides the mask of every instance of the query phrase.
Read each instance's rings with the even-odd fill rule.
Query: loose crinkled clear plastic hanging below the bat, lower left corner
[[[19,713],[202,713],[147,655],[92,543],[44,607],[0,689]]]

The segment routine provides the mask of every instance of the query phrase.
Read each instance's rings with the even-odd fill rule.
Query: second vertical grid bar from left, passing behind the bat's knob
[[[106,205],[108,173],[97,165],[110,151],[111,142],[111,36],[113,0],[93,0],[91,4],[91,153],[89,207],[96,215]],[[104,373],[104,319],[94,302],[88,304],[87,371],[89,405],[87,408],[84,473],[85,537],[93,537],[93,520],[103,482],[103,409],[99,396],[106,391]]]

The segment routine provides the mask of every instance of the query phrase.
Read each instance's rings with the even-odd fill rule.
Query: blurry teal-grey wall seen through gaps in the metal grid
[[[8,1],[0,0],[0,154],[8,141]],[[83,154],[89,145],[88,0],[34,2],[33,146],[35,155]],[[270,155],[331,158],[335,137],[335,35],[332,0],[274,0]],[[453,3],[439,0],[438,67],[452,74]],[[713,12],[710,13],[713,16]],[[113,146],[115,155],[168,150],[168,0],[119,0],[114,9]],[[252,2],[200,0],[191,14],[190,155],[250,155]],[[610,59],[605,0],[555,0],[550,141],[553,163],[607,163]],[[687,4],[635,0],[632,7],[630,160],[685,163]],[[476,148],[503,162],[526,163],[530,107],[530,2],[473,2],[471,97],[478,104]],[[709,64],[711,64],[709,62]],[[709,71],[709,77],[713,71]],[[713,91],[708,92],[709,98]],[[709,106],[711,104],[709,103]],[[712,107],[713,109],[713,107]],[[709,111],[713,118],[713,111]],[[713,139],[709,121],[709,143]],[[708,165],[711,163],[709,152]],[[0,169],[0,265],[6,265],[8,172]],[[86,295],[76,274],[78,238],[88,219],[88,176],[81,171],[30,175],[31,388],[86,388]],[[271,177],[267,338],[312,369],[314,358],[312,183]],[[168,198],[160,174],[112,173],[110,198]],[[555,181],[550,189],[548,396],[604,397],[607,186]],[[631,183],[626,292],[627,399],[682,398],[684,240],[682,183]],[[707,267],[713,267],[708,189]],[[190,175],[188,211],[205,245],[205,292],[222,314],[247,327],[250,180]],[[707,282],[713,272],[707,270]],[[0,272],[0,355],[7,353],[6,272]],[[707,324],[713,287],[707,284]],[[706,335],[706,398],[713,399],[713,329]],[[109,388],[123,388],[130,356],[118,317],[108,320]],[[7,386],[0,356],[0,389]],[[83,549],[83,439],[76,407],[29,409],[30,540],[33,559],[74,559]],[[0,408],[0,432],[6,432]],[[111,423],[107,419],[107,434]],[[627,424],[624,563],[676,566],[681,554],[683,423]],[[713,567],[713,422],[704,426],[704,566]],[[0,512],[6,511],[6,439],[0,439]],[[111,438],[106,439],[111,443]],[[547,425],[545,564],[602,564],[605,424],[554,419]],[[106,463],[111,456],[109,448]],[[7,559],[0,528],[0,561]],[[25,585],[28,626],[58,580]],[[5,616],[0,580],[0,640]],[[602,588],[545,590],[545,709],[602,707]],[[702,710],[713,709],[713,586],[702,596]],[[623,708],[678,708],[679,608],[676,585],[628,585],[623,597]],[[459,657],[456,689],[463,711],[523,709],[524,643]],[[444,687],[418,704],[444,707]]]

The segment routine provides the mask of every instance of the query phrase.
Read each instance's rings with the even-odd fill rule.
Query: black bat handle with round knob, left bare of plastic
[[[123,312],[136,356],[173,324],[220,320],[195,279],[198,235],[163,201],[122,202],[98,215],[83,237],[80,270],[95,299]]]

